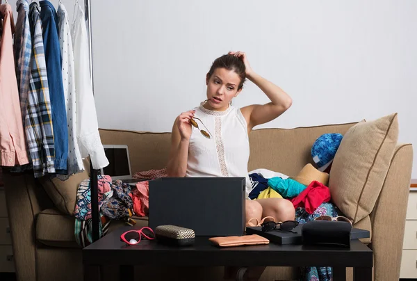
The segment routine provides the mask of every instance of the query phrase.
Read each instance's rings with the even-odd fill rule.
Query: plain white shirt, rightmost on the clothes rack
[[[90,155],[92,168],[98,170],[108,166],[108,159],[104,153],[99,135],[99,125],[90,77],[87,27],[85,26],[84,12],[79,3],[76,4],[74,13],[71,31],[75,68],[76,131],[81,156],[87,157]]]

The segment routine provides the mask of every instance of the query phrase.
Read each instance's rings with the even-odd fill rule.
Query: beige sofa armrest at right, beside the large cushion
[[[373,231],[374,280],[400,278],[412,166],[412,145],[397,145],[382,191],[370,214]]]

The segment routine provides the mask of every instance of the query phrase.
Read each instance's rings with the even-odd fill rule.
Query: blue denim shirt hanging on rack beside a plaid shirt
[[[54,163],[56,173],[65,175],[67,174],[68,131],[58,40],[58,15],[56,15],[54,5],[47,0],[40,1],[40,7],[49,96],[51,97],[52,124],[54,125]]]

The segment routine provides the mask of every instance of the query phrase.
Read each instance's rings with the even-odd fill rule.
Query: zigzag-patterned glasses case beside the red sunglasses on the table
[[[190,246],[195,242],[195,232],[177,225],[159,225],[155,228],[158,242],[172,246]]]

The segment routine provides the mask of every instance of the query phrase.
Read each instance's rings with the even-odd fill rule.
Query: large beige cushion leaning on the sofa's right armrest
[[[398,140],[397,113],[350,128],[330,170],[332,200],[353,223],[370,214]]]

